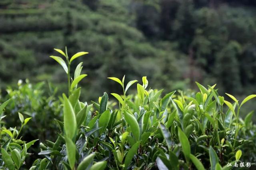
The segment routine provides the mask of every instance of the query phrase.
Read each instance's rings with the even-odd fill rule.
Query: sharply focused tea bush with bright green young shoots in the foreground
[[[163,90],[148,88],[146,76],[142,83],[132,80],[127,84],[124,76],[122,80],[108,78],[123,90],[122,94],[110,94],[114,102],[109,101],[107,93],[92,104],[80,102],[78,83],[87,75],[81,74],[82,63],[74,76],[70,75],[70,65],[87,52],[68,57],[67,50],[55,50],[66,60],[51,56],[68,78],[68,94],[60,98],[64,119],[56,123],[58,137],[40,143],[40,158],[30,170],[229,170],[240,162],[245,162],[243,169],[255,166],[253,113],[245,119],[239,113],[256,95],[242,102],[230,94],[225,99],[218,94],[216,84],[206,88],[196,82],[200,92],[173,91],[161,97]],[[137,93],[127,94],[134,84]],[[2,104],[1,109],[6,105]],[[30,119],[19,116],[22,123]],[[4,147],[0,166],[19,169],[24,156],[29,155],[26,142],[17,138],[15,128],[3,127],[1,134]]]

